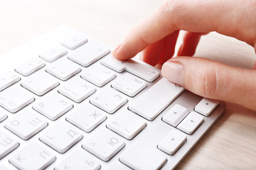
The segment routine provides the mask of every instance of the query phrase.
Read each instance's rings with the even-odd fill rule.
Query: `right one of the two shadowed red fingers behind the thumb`
[[[183,37],[183,43],[178,50],[178,56],[193,56],[196,52],[196,47],[202,35],[207,33],[191,33],[187,32]]]

